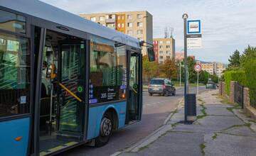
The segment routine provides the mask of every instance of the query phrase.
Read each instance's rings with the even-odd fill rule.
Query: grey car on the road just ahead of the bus
[[[152,96],[153,94],[160,94],[162,96],[175,96],[176,94],[174,84],[172,84],[169,79],[164,78],[151,79],[149,82],[148,91],[149,96]]]

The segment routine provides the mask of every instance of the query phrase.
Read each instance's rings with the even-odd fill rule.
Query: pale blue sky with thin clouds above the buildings
[[[196,60],[228,63],[237,49],[256,46],[256,0],[41,0],[71,13],[149,11],[153,38],[173,28],[176,52],[183,50],[183,13],[201,19],[202,48],[188,50]]]

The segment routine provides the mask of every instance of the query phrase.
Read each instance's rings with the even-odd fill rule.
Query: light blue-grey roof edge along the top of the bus
[[[0,6],[4,6],[8,9],[19,11],[21,13],[26,13],[30,16],[35,16],[46,21],[58,23],[63,26],[68,26],[70,28],[82,30],[86,33],[98,35],[102,38],[107,38],[110,40],[117,41],[119,43],[131,45],[134,48],[140,48],[139,40],[137,40],[137,38],[132,38],[129,35],[125,35],[124,33],[118,32],[117,30],[112,30],[111,28],[101,26],[98,23],[92,22],[73,13],[69,13],[68,11],[58,9],[55,6],[43,3],[42,1],[1,0]]]

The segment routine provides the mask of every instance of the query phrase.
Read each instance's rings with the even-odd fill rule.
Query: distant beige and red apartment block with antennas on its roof
[[[159,64],[163,64],[167,59],[175,59],[174,38],[154,38],[153,40],[156,61]]]

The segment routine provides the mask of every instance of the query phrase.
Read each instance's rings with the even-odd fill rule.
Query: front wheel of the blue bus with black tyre
[[[95,146],[100,147],[110,140],[110,136],[113,131],[113,120],[110,112],[104,114],[102,121],[100,122],[100,135],[95,139]]]

